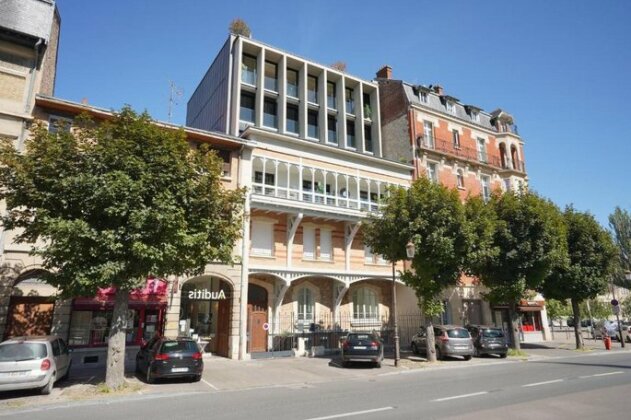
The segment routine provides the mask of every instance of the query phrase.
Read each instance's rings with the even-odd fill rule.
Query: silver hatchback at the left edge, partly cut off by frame
[[[70,374],[68,346],[57,336],[15,337],[0,343],[0,391],[37,389],[50,394]]]

